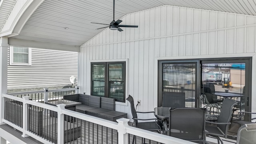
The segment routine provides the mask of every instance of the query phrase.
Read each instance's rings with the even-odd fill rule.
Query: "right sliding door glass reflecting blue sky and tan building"
[[[216,61],[218,62],[218,61]],[[212,114],[218,114],[224,98],[232,98],[239,104],[234,106],[234,114],[245,110],[246,63],[202,64],[202,107]]]

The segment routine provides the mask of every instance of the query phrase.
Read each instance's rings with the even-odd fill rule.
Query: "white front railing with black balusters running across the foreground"
[[[126,119],[126,118],[120,118],[120,119],[117,120],[117,122],[111,122],[111,121],[104,120],[104,119],[101,119],[101,118],[96,118],[94,116],[89,116],[89,115],[86,115],[86,114],[81,114],[79,112],[74,112],[74,111],[71,111],[71,110],[67,110],[67,109],[65,109],[65,104],[58,104],[57,107],[56,107],[56,106],[51,106],[51,105],[40,103],[40,102],[34,102],[32,100],[29,100],[28,96],[24,96],[23,98],[18,98],[18,97],[11,96],[11,95],[8,95],[8,94],[2,94],[2,97],[8,98],[8,99],[11,99],[11,100],[16,100],[18,102],[22,102],[22,104],[23,104],[23,107],[22,107],[22,109],[23,109],[22,110],[22,112],[23,112],[22,127],[19,127],[14,123],[12,123],[8,120],[5,120],[4,118],[2,118],[2,122],[4,122],[4,123],[16,128],[17,130],[21,131],[23,133],[22,134],[23,137],[31,136],[32,138],[35,138],[36,140],[39,140],[39,141],[41,141],[45,144],[52,144],[53,142],[51,142],[49,140],[46,140],[46,139],[42,138],[42,136],[38,136],[38,135],[36,135],[33,132],[28,130],[28,114],[29,114],[28,113],[28,106],[30,106],[30,107],[31,106],[38,106],[40,108],[44,108],[44,110],[47,109],[47,110],[51,110],[53,112],[57,112],[57,114],[58,114],[58,118],[57,118],[58,119],[58,122],[57,122],[57,124],[58,124],[57,143],[58,144],[63,144],[64,143],[64,131],[65,131],[64,130],[64,122],[66,122],[66,121],[64,121],[64,115],[70,116],[70,118],[71,118],[71,116],[74,117],[74,118],[77,118],[78,122],[81,121],[81,126],[82,126],[82,120],[83,120],[83,121],[89,122],[89,124],[91,122],[91,123],[96,124],[96,125],[98,124],[98,125],[110,128],[112,130],[117,130],[117,132],[118,132],[118,142],[117,143],[118,144],[128,144],[128,136],[130,134],[135,135],[135,136],[139,136],[141,138],[146,138],[148,140],[152,140],[152,141],[155,141],[155,142],[164,143],[164,144],[194,144],[193,142],[189,142],[189,141],[186,141],[186,140],[181,140],[181,139],[174,138],[174,137],[171,137],[171,136],[166,136],[166,135],[163,135],[163,134],[158,134],[156,132],[150,132],[150,131],[147,131],[147,130],[142,130],[142,129],[139,129],[139,128],[129,126],[128,125],[129,119]],[[84,124],[86,124],[86,123],[84,122]],[[78,131],[78,130],[76,130],[76,131]]]

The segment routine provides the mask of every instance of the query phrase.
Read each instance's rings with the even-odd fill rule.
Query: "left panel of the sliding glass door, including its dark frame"
[[[191,61],[160,62],[162,91],[158,94],[158,106],[163,104],[162,101],[165,99],[163,95],[171,92],[170,96],[175,95],[175,93],[184,93],[185,98],[183,98],[182,103],[185,103],[185,107],[196,107],[197,66],[198,62]],[[181,94],[176,95],[182,96]]]

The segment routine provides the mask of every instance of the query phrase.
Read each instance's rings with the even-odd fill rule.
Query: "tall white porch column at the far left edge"
[[[7,55],[8,55],[8,38],[0,37],[0,124],[4,124],[4,97],[2,94],[7,93]]]

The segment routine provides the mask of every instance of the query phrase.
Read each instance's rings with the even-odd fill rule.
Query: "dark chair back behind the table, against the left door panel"
[[[163,92],[163,107],[184,108],[185,92]]]

